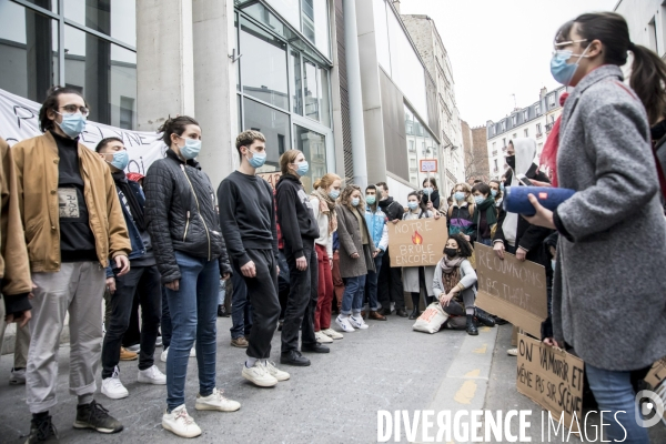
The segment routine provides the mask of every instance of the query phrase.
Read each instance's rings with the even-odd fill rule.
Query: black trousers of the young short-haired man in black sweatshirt
[[[258,360],[271,357],[271,341],[278,327],[280,302],[278,301],[278,261],[273,250],[245,250],[254,262],[256,275],[245,278],[248,300],[252,304],[252,331],[248,341],[248,356]],[[234,265],[240,269],[240,264]]]

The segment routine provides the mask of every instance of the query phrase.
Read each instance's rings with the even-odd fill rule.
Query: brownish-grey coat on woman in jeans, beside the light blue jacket
[[[356,278],[367,274],[367,271],[375,271],[372,252],[375,245],[367,231],[365,223],[365,211],[359,210],[363,226],[359,226],[359,220],[346,205],[335,206],[337,213],[337,239],[340,240],[340,275],[342,278]],[[369,244],[364,249],[361,238],[361,230],[365,230]],[[357,259],[352,259],[352,254],[359,253]]]

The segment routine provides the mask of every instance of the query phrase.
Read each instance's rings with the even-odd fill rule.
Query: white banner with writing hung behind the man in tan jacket
[[[41,135],[40,108],[40,103],[0,89],[0,137],[13,145],[22,140]],[[160,135],[155,132],[123,130],[89,120],[79,140],[94,150],[99,141],[104,138],[121,139],[130,155],[130,163],[125,171],[145,175],[148,168],[155,160],[164,158],[167,152],[167,145]]]

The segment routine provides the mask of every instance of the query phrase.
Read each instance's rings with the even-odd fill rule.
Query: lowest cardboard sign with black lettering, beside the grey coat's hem
[[[564,415],[564,425],[573,432],[583,421],[584,369],[579,357],[518,334],[518,392],[551,412],[553,421]]]

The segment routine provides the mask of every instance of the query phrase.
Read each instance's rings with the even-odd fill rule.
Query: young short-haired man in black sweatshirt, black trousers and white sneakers
[[[271,340],[278,326],[278,233],[273,190],[256,176],[266,160],[265,138],[259,131],[244,131],[236,138],[239,169],[220,183],[220,225],[235,273],[248,285],[248,300],[254,307],[248,361],[243,377],[271,387],[290,375],[278,370],[271,357]]]

